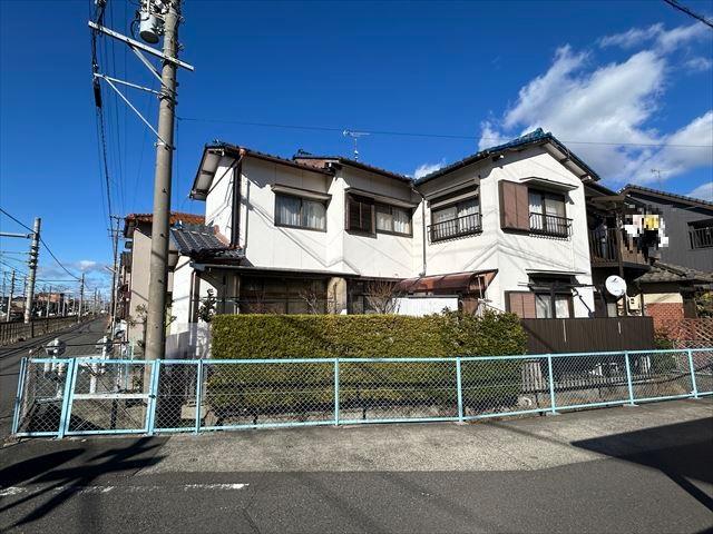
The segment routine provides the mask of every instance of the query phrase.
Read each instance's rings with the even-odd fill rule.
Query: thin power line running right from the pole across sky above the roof
[[[261,128],[283,128],[292,130],[313,130],[313,131],[344,131],[344,128],[331,127],[331,126],[313,126],[313,125],[281,125],[274,122],[254,122],[245,120],[225,120],[225,119],[205,119],[197,117],[176,117],[178,121],[185,120],[189,122],[215,122],[226,125],[241,125],[241,126],[256,126]],[[462,139],[462,140],[478,140],[486,139],[489,141],[511,141],[509,137],[478,137],[478,136],[461,136],[450,134],[428,134],[428,132],[412,132],[412,131],[392,131],[392,130],[369,130],[359,129],[360,132],[377,135],[377,136],[401,136],[401,137],[424,137],[437,139]],[[684,145],[684,144],[665,144],[665,142],[612,142],[612,141],[582,141],[572,139],[560,139],[561,142],[569,145],[603,145],[612,147],[677,147],[677,148],[713,148],[713,145]]]

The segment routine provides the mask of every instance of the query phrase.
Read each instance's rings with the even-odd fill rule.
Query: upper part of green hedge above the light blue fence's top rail
[[[213,358],[450,357],[524,354],[514,314],[217,315]]]

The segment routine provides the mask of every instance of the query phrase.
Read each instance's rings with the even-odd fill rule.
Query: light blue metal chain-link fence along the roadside
[[[449,358],[25,358],[17,436],[470,421],[713,395],[713,347]]]

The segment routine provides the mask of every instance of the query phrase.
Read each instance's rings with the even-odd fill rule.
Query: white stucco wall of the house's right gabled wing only
[[[576,186],[566,192],[566,215],[572,220],[572,235],[557,239],[529,234],[504,231],[500,228],[500,200],[498,182],[519,182],[539,177]],[[427,246],[427,274],[440,275],[468,270],[498,269],[488,288],[490,305],[506,309],[505,291],[527,290],[528,269],[582,273],[579,284],[592,284],[587,219],[582,180],[565,169],[540,148],[506,156],[494,165],[490,160],[460,169],[447,177],[428,182],[423,190],[429,195],[453,182],[479,184],[482,233],[461,239],[439,241]],[[426,224],[430,224],[427,209]],[[594,313],[592,287],[577,289],[575,316],[587,317]]]

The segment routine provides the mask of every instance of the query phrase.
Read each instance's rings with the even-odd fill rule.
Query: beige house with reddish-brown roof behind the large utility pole
[[[126,253],[119,259],[117,316],[128,325],[130,342],[144,342],[145,312],[150,284],[152,214],[130,214],[124,220]],[[172,212],[170,224],[186,221],[202,224],[202,215]],[[175,256],[175,253],[174,253]],[[173,269],[172,269],[173,270]],[[173,287],[173,273],[168,274],[168,301]]]

